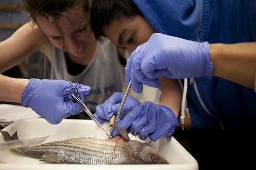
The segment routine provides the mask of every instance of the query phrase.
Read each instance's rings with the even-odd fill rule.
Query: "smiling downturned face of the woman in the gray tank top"
[[[95,42],[90,15],[82,8],[66,10],[57,22],[43,17],[36,17],[36,20],[53,45],[74,57],[85,57]]]

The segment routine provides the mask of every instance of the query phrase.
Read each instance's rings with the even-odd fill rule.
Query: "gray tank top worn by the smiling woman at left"
[[[89,65],[78,75],[68,73],[65,54],[51,44],[51,79],[63,79],[91,87],[85,96],[85,104],[95,112],[96,105],[104,102],[115,91],[124,86],[124,67],[119,62],[117,48],[109,39],[97,42],[95,54]]]

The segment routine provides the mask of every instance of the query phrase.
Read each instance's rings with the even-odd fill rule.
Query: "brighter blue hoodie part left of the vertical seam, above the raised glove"
[[[207,13],[203,16],[204,10],[208,10],[208,3],[203,1],[133,0],[157,32],[199,41],[201,36],[205,37],[202,28],[207,27],[209,21]]]

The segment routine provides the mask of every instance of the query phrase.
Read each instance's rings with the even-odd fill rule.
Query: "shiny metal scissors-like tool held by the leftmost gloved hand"
[[[84,111],[86,112],[87,115],[90,116],[90,118],[99,126],[100,129],[102,129],[106,135],[109,137],[110,134],[107,133],[107,131],[103,128],[103,126],[99,123],[99,121],[93,116],[92,112],[86,107],[86,105],[84,104],[84,102],[82,100],[80,100],[80,98],[78,97],[78,90],[75,86],[75,84],[73,84],[71,81],[70,81],[70,84],[72,84],[73,88],[75,88],[76,90],[76,96],[74,94],[71,94],[71,96],[73,98],[75,98],[75,100],[77,101],[77,103],[80,104],[80,106],[84,109]]]

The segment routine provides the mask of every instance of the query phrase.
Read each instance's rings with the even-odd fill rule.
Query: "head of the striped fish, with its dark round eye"
[[[154,148],[140,141],[127,141],[125,147],[129,157],[138,161],[137,164],[169,164]]]

